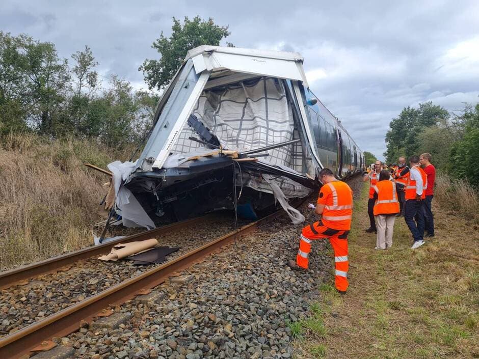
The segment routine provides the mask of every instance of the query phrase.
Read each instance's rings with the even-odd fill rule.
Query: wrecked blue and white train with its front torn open
[[[338,178],[364,155],[309,90],[299,53],[200,46],[188,52],[157,105],[136,162],[113,162],[115,210],[154,227],[221,209],[254,218]],[[300,215],[301,216],[301,215]]]

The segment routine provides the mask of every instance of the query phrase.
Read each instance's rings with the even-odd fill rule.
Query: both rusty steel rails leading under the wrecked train
[[[47,339],[65,336],[74,332],[80,327],[82,321],[92,320],[101,312],[101,310],[122,303],[141,293],[141,290],[153,288],[158,284],[161,284],[173,273],[191,266],[193,263],[201,260],[212,252],[215,252],[221,246],[232,242],[237,236],[242,236],[255,230],[258,225],[267,223],[282,213],[284,212],[279,210],[267,217],[257,220],[256,222],[244,225],[237,230],[199,245],[191,251],[182,253],[163,264],[134,275],[133,277],[115,284],[106,290],[100,291],[87,298],[83,298],[59,312],[48,315],[33,324],[20,328],[16,332],[0,338],[0,357],[13,359],[19,358],[24,354],[28,354],[32,348]],[[208,219],[211,218],[201,217],[188,220],[182,223],[128,236],[117,242],[142,240],[161,234],[176,232],[185,226],[195,227],[198,223],[205,222]],[[9,270],[0,274],[0,285],[3,288],[7,288],[19,281],[26,282],[26,279],[38,277],[39,275],[61,269],[64,266],[72,265],[77,261],[107,253],[115,243],[116,242],[110,242],[100,246],[85,248],[84,250]]]

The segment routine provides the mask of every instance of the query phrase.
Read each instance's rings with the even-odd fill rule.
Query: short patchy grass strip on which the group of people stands
[[[290,324],[297,357],[479,357],[477,212],[466,210],[468,220],[459,216],[457,200],[443,196],[455,189],[444,188],[433,202],[436,237],[414,251],[403,217],[396,220],[392,248],[374,250],[376,236],[364,232],[363,188],[349,236],[350,288],[340,296],[323,285],[310,318]],[[471,196],[476,205],[477,195]]]

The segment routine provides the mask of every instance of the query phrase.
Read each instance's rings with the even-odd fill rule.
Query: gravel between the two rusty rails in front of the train
[[[240,223],[239,225],[242,225]],[[206,219],[204,223],[157,236],[159,245],[180,247],[169,260],[233,229],[231,216]],[[0,291],[0,337],[65,309],[72,304],[132,278],[153,265],[132,261],[105,262],[97,257],[80,260],[70,268],[40,275],[26,285]]]

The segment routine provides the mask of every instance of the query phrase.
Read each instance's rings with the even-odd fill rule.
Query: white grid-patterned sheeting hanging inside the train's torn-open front
[[[275,78],[246,80],[220,89],[204,91],[193,115],[214,133],[225,149],[246,151],[294,139],[294,122],[282,82]],[[190,153],[201,145],[188,124],[179,135],[173,153]],[[300,146],[289,145],[268,151],[262,158],[301,173]]]

